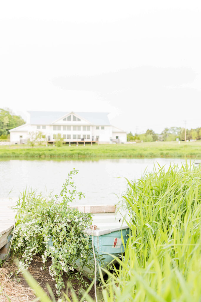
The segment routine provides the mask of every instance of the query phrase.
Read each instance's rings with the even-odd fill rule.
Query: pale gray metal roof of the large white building
[[[55,120],[71,113],[70,111],[28,111],[30,113],[31,125],[49,125]],[[79,115],[83,119],[90,122],[92,125],[104,125],[109,126],[107,112],[73,112],[75,115]]]

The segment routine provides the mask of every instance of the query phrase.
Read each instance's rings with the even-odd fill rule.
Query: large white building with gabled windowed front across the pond
[[[105,112],[28,111],[29,122],[9,130],[11,144],[27,143],[30,133],[42,132],[43,139],[54,143],[125,143],[126,132],[111,126]]]

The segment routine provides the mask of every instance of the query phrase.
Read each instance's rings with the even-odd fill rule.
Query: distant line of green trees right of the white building
[[[155,133],[152,129],[147,129],[146,133],[137,134],[130,131],[127,134],[127,141],[144,141],[144,142],[154,142],[154,141],[166,141],[171,142],[176,139],[185,140],[185,129],[181,127],[171,127],[165,128],[162,133]],[[201,140],[201,127],[196,129],[186,129],[186,139],[187,140]]]

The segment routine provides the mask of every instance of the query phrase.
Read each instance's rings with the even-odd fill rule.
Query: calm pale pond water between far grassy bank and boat
[[[168,168],[171,162],[181,165],[185,160],[156,158],[0,161],[0,202],[5,197],[14,200],[26,186],[43,193],[53,190],[58,194],[68,172],[75,168],[79,170],[79,174],[74,177],[77,189],[86,195],[79,204],[117,203],[118,197],[115,194],[121,196],[127,187],[125,179],[118,177],[124,176],[129,180],[139,178],[146,168],[152,171],[154,162]]]

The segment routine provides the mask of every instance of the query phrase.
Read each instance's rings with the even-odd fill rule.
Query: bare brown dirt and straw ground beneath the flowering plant
[[[48,292],[48,289],[47,289],[47,286],[46,286],[46,284],[48,283],[50,285],[50,287],[52,288],[52,292],[53,292],[54,296],[56,297],[55,281],[52,280],[52,277],[49,275],[49,270],[48,270],[48,266],[51,265],[51,261],[49,259],[49,261],[46,262],[47,269],[43,270],[43,271],[41,271],[41,269],[40,269],[42,264],[43,263],[42,263],[41,257],[39,255],[35,255],[34,258],[33,258],[33,261],[30,264],[30,267],[28,268],[28,271],[33,276],[33,278],[35,278],[36,281],[40,284],[40,286],[43,288],[43,290],[46,293],[48,293],[48,295],[49,295],[49,292]],[[17,271],[17,266],[14,264],[14,262],[11,262],[11,261],[8,260],[7,262],[4,263],[3,269],[8,271],[10,274],[13,272],[13,275],[11,277],[11,281],[13,281],[13,282],[17,281],[19,284],[23,285],[23,287],[29,288],[27,282],[23,278],[23,275],[22,274],[18,274],[18,275],[15,274],[15,272]],[[64,284],[68,283],[68,277],[65,273],[63,275],[63,281],[64,281]],[[76,282],[76,275],[75,275],[75,278],[73,279],[73,281],[71,280],[71,284],[73,286],[74,291],[78,295],[79,287],[78,287],[77,282]],[[64,290],[64,292],[65,292],[65,290]],[[92,287],[89,294],[93,299],[95,299],[94,287]],[[35,297],[35,295],[30,292],[28,294],[28,297],[27,297],[27,302],[32,301],[34,299],[34,297]],[[71,293],[70,292],[68,293],[68,297],[71,298]],[[1,299],[0,299],[0,301],[1,301]],[[11,302],[12,302],[12,300],[11,300]]]

